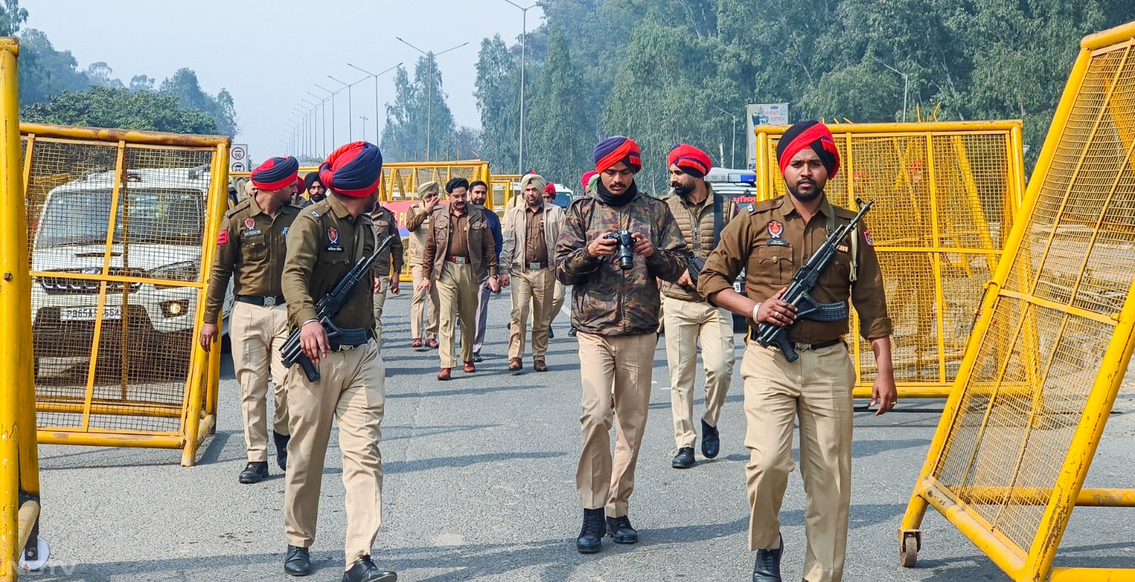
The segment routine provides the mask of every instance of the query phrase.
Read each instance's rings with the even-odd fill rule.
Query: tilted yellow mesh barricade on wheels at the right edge
[[[1081,47],[902,520],[905,566],[933,506],[1012,580],[1135,580],[1052,567],[1075,506],[1135,505],[1083,489],[1135,347],[1135,23]]]

